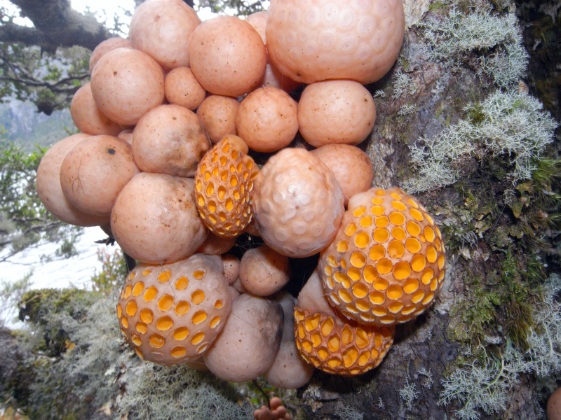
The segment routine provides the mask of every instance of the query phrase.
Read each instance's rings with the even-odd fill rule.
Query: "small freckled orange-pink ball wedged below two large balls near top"
[[[206,97],[206,90],[189,67],[176,67],[165,75],[165,99],[170,104],[195,111]]]

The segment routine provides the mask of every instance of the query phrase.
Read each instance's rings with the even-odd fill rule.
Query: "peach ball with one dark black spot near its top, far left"
[[[60,186],[77,209],[108,216],[117,195],[139,172],[130,144],[113,136],[91,136],[65,155],[60,164]]]

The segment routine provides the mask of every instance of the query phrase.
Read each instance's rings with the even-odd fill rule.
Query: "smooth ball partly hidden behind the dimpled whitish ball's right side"
[[[349,199],[372,187],[374,168],[368,155],[350,144],[325,144],[311,151],[332,170],[343,190],[345,206]]]

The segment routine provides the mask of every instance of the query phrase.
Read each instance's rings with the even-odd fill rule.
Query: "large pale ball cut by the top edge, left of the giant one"
[[[144,1],[130,19],[130,42],[165,69],[189,66],[189,40],[200,23],[182,0]]]

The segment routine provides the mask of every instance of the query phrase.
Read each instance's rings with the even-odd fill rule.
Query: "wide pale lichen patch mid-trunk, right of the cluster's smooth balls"
[[[525,93],[496,91],[464,111],[468,119],[411,146],[410,161],[417,176],[403,183],[408,193],[448,186],[459,179],[463,162],[489,153],[506,156],[513,166],[508,176],[514,184],[530,179],[535,161],[553,141],[557,127],[541,102]]]

